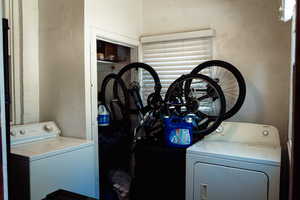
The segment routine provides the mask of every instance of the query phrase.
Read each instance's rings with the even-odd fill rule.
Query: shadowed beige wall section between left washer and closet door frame
[[[84,1],[39,0],[40,119],[85,138]]]

